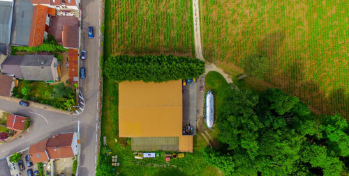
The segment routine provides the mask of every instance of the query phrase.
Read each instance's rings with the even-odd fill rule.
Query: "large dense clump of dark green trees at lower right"
[[[321,120],[323,119],[323,120]],[[317,116],[297,97],[269,89],[260,97],[230,88],[218,109],[219,149],[204,159],[225,175],[340,175],[348,123]]]

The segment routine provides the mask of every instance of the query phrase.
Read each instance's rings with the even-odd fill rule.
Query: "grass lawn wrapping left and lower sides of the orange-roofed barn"
[[[118,83],[104,79],[101,145],[103,136],[106,136],[112,155],[118,155],[120,166],[116,172],[121,175],[219,175],[218,170],[208,166],[201,157],[202,147],[207,144],[200,134],[194,137],[193,153],[186,153],[183,159],[172,159],[170,162],[166,162],[165,157],[134,159],[131,138],[118,137],[118,91]],[[159,153],[163,156],[165,152]]]

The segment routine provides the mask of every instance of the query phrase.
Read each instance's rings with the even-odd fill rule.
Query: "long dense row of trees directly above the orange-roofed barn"
[[[205,72],[205,62],[177,56],[114,56],[105,60],[103,71],[114,81],[162,82],[192,79]]]

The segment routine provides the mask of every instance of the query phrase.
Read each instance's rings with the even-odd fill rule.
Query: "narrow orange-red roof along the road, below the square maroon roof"
[[[74,77],[79,79],[79,51],[77,49],[68,49],[68,81],[77,83]]]

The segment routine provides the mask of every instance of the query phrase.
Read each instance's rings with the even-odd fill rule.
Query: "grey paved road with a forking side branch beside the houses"
[[[84,112],[80,115],[66,115],[34,108],[20,106],[18,102],[0,99],[0,109],[10,113],[18,113],[31,118],[32,125],[24,131],[22,137],[0,145],[0,157],[23,150],[54,134],[77,131],[80,121],[80,162],[79,175],[95,175],[98,151],[98,90],[100,80],[100,49],[101,49],[101,1],[82,0],[82,46],[87,51],[87,59],[80,62],[86,68],[86,79],[80,80],[80,88],[84,95]],[[94,38],[87,37],[88,26],[94,27]],[[47,120],[47,121],[46,121]],[[48,122],[48,123],[47,123]]]

